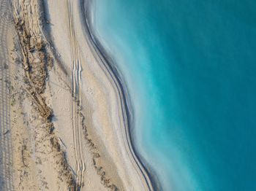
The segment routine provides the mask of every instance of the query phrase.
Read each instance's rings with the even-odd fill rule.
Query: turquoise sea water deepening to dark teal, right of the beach
[[[256,190],[256,1],[96,1],[162,190]]]

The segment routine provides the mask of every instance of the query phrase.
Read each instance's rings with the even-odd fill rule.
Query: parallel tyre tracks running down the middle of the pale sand
[[[76,184],[77,190],[80,190],[83,187],[83,175],[86,170],[85,163],[83,161],[83,149],[81,145],[82,132],[80,126],[80,55],[78,50],[77,39],[75,38],[75,28],[73,26],[73,17],[72,17],[72,0],[67,0],[68,12],[69,12],[69,35],[71,39],[71,62],[72,62],[72,94],[75,99],[72,104],[72,130],[73,130],[73,141],[75,149],[75,160],[76,160]]]

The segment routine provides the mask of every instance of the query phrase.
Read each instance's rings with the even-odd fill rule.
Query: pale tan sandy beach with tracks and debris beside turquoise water
[[[92,34],[92,7],[10,4],[4,190],[154,190],[131,142],[127,91]]]

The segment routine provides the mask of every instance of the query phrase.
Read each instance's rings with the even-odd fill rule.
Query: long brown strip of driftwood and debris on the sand
[[[69,190],[78,190],[75,184],[75,175],[67,164],[67,159],[64,152],[61,150],[59,139],[56,138],[54,133],[54,126],[51,122],[53,114],[52,109],[45,103],[45,98],[42,93],[45,91],[45,81],[48,77],[48,66],[53,66],[53,58],[48,52],[48,47],[45,44],[45,38],[42,32],[42,4],[37,1],[33,15],[38,17],[35,23],[34,20],[29,18],[27,7],[24,1],[20,1],[21,11],[16,13],[14,11],[15,30],[18,34],[18,42],[22,52],[23,70],[25,72],[24,82],[26,84],[26,92],[34,102],[39,115],[42,117],[42,123],[45,130],[48,130],[50,136],[50,144],[52,145],[53,152],[59,156],[59,165],[61,176],[67,180]],[[15,7],[14,7],[15,9]],[[32,13],[31,13],[32,14]],[[26,165],[26,145],[21,149],[23,165]],[[62,177],[61,177],[62,178]]]

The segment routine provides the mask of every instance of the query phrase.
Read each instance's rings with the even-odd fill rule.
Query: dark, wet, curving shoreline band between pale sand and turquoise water
[[[124,79],[121,78],[121,72],[118,71],[118,66],[115,65],[115,61],[113,58],[108,55],[105,51],[105,48],[100,43],[97,35],[94,32],[94,29],[91,24],[91,14],[93,3],[90,0],[80,0],[80,9],[83,16],[83,26],[86,31],[86,37],[89,40],[91,50],[97,54],[97,57],[100,59],[100,63],[105,67],[105,69],[110,74],[111,79],[115,82],[116,89],[118,90],[118,95],[121,98],[121,108],[122,108],[122,115],[125,124],[125,136],[127,139],[127,144],[129,147],[129,151],[132,154],[133,160],[135,161],[136,165],[138,166],[140,173],[143,174],[144,179],[146,180],[146,184],[149,190],[159,190],[159,180],[156,176],[152,173],[151,167],[146,164],[146,161],[138,151],[135,149],[134,140],[132,139],[131,128],[134,127],[133,122],[133,112],[132,112],[132,101],[129,97],[129,92],[127,90],[127,85],[124,82]]]

